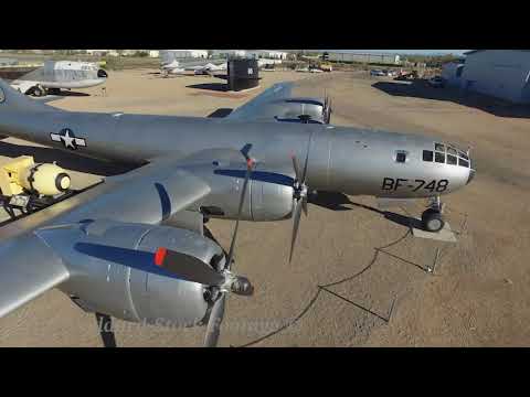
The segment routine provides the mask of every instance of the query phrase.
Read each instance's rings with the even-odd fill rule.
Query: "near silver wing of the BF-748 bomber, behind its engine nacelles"
[[[83,219],[158,224],[210,193],[178,161],[160,160],[0,228],[0,318],[68,279],[41,238],[44,229]]]

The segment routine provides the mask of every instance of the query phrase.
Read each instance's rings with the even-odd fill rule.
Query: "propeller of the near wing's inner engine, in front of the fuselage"
[[[298,160],[295,153],[290,154],[293,160],[293,169],[295,170],[295,183],[293,185],[293,235],[290,239],[290,253],[289,253],[289,262],[293,260],[293,251],[295,249],[296,237],[298,236],[298,227],[300,225],[301,212],[307,216],[307,200],[308,200],[308,185],[307,180],[307,165],[309,162],[309,149],[312,141],[312,132],[309,137],[307,143],[306,159],[304,161],[304,170],[300,173],[300,168],[298,167]]]

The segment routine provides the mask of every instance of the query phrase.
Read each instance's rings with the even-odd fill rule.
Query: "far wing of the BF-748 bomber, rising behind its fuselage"
[[[232,111],[225,119],[240,121],[257,121],[266,120],[274,121],[276,111],[274,107],[269,106],[275,100],[280,98],[288,98],[292,96],[293,83],[278,83],[265,89],[254,99],[247,101]]]

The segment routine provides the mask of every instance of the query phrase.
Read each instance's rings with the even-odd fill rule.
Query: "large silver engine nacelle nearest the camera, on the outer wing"
[[[158,247],[221,262],[223,250],[212,240],[186,229],[112,221],[36,234],[70,270],[59,289],[84,310],[156,325],[193,326],[208,320],[205,286],[153,273],[148,267]]]

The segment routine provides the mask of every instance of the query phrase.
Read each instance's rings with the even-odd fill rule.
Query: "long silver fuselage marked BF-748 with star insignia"
[[[38,116],[38,117],[36,117]],[[83,138],[84,147],[66,149],[51,140],[64,128]],[[470,168],[422,159],[434,151],[434,138],[412,133],[289,122],[241,122],[223,119],[45,111],[4,112],[0,133],[74,151],[80,155],[137,162],[160,157],[174,159],[209,149],[239,150],[252,143],[263,169],[290,173],[290,155],[305,158],[309,144],[308,184],[314,190],[379,197],[427,197],[464,186]],[[406,161],[396,162],[398,151]],[[393,180],[392,189],[384,181]],[[398,183],[395,181],[400,180]],[[424,181],[446,180],[444,190],[416,189]],[[395,189],[394,189],[395,186]]]

